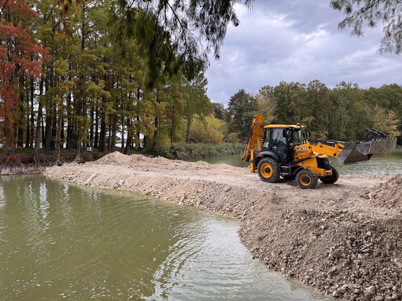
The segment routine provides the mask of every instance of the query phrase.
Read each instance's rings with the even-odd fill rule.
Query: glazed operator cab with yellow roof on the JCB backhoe
[[[304,126],[271,124],[264,127],[263,150],[276,153],[282,163],[293,158],[293,148],[306,143]]]

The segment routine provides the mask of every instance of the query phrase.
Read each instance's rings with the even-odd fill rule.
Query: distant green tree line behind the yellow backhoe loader
[[[400,138],[402,85],[363,89],[341,81],[330,89],[319,80],[308,84],[281,81],[275,87],[262,87],[258,94],[240,89],[230,97],[225,118],[239,137],[248,134],[254,114],[263,115],[266,124],[300,122],[312,131],[313,138],[355,141],[364,128]]]

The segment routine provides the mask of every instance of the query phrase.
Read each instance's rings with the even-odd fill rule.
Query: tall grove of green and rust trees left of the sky
[[[117,141],[125,154],[222,143],[225,123],[202,70],[209,52],[219,57],[228,23],[239,21],[234,3],[218,2],[0,0],[4,153],[34,148],[35,159],[54,154],[60,164],[63,147],[82,162],[82,148],[113,152]],[[197,27],[212,32],[197,38]]]

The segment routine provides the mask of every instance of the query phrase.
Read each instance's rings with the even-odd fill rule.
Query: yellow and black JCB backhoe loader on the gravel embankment
[[[333,184],[339,173],[330,165],[328,156],[341,164],[367,161],[375,153],[395,149],[396,139],[373,128],[363,130],[357,142],[306,138],[304,126],[272,124],[263,127],[264,118],[254,115],[242,160],[257,169],[264,182],[275,183],[279,177],[295,179],[300,188],[314,188],[320,179]],[[309,130],[309,137],[310,137]],[[329,145],[328,145],[329,144]],[[255,148],[255,145],[256,148]]]

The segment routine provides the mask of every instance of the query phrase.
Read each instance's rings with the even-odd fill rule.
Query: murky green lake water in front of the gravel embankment
[[[0,177],[0,300],[322,300],[253,260],[236,220],[43,175]]]

